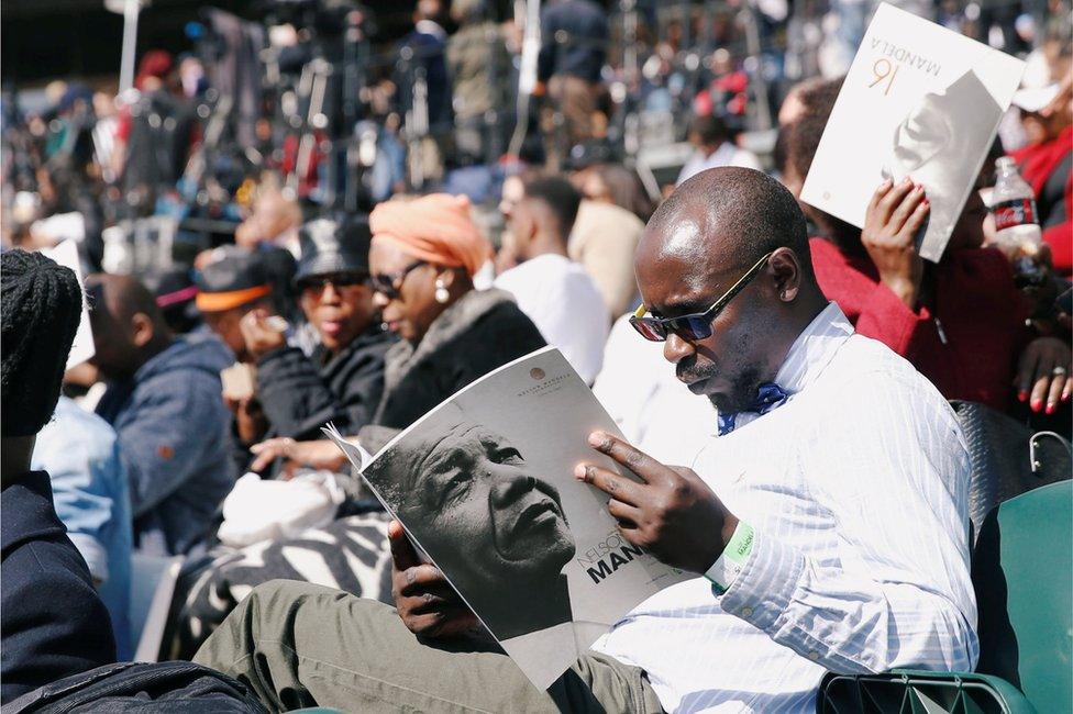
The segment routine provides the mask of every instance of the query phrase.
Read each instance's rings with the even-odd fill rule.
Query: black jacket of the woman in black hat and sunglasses
[[[390,336],[377,326],[328,361],[323,347],[311,357],[297,347],[263,356],[257,360],[257,395],[272,433],[318,439],[323,438],[320,428],[333,422],[342,433],[356,434],[380,401],[384,355],[390,346]]]

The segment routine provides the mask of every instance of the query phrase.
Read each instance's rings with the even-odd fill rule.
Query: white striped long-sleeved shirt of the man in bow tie
[[[834,303],[775,382],[784,405],[693,462],[755,529],[744,570],[722,598],[703,578],[657,593],[594,649],[671,712],[812,712],[827,670],[972,670],[969,454],[945,400]]]

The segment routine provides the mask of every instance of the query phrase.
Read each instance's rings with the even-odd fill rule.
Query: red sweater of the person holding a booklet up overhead
[[[932,266],[932,312],[907,308],[867,257],[845,256],[822,238],[809,244],[820,289],[859,333],[908,359],[947,399],[1011,404],[1028,310],[998,250],[954,250]]]

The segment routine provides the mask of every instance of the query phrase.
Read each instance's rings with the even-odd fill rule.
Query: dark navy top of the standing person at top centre
[[[557,33],[565,42],[556,40]],[[555,75],[600,81],[610,31],[607,14],[595,2],[563,0],[547,5],[541,13],[540,36],[536,75],[541,81]]]

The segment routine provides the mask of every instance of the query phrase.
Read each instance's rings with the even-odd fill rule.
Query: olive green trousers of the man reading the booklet
[[[305,582],[259,585],[195,661],[234,677],[273,711],[662,712],[637,667],[589,651],[546,692],[495,645],[429,644],[392,607]]]

